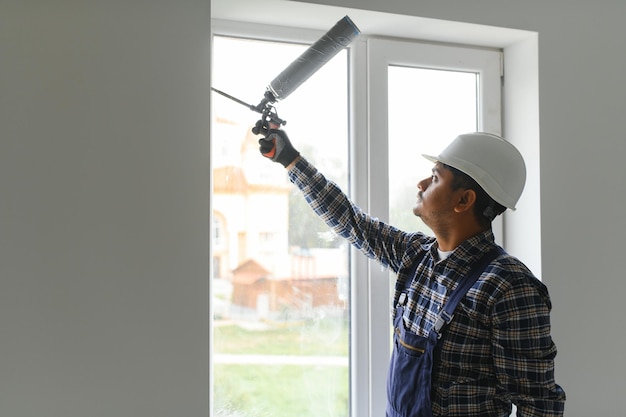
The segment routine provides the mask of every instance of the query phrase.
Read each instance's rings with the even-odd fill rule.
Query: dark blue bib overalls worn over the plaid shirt
[[[428,337],[418,336],[406,329],[404,310],[411,281],[407,279],[404,291],[398,298],[396,315],[393,319],[393,353],[387,375],[387,417],[432,417],[430,399],[433,356],[441,329],[450,323],[457,304],[474,285],[487,265],[499,254],[496,247],[478,261],[476,267],[459,283],[450,294]],[[413,277],[417,269],[415,262],[409,274]]]

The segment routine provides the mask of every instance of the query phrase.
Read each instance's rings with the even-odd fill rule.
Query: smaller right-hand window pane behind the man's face
[[[470,72],[389,66],[389,218],[432,232],[413,215],[417,182],[457,135],[477,130],[477,80]]]

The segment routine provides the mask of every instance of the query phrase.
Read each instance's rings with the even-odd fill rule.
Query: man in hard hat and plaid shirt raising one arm
[[[434,167],[417,184],[413,213],[432,229],[429,237],[364,213],[284,131],[265,133],[261,153],[288,169],[315,213],[397,273],[388,417],[505,417],[512,404],[520,417],[563,415],[548,291],[495,244],[491,230],[524,188],[526,168],[517,149],[498,136],[472,133],[438,156],[424,155]],[[455,293],[467,282],[469,290]],[[454,315],[445,316],[457,297]]]

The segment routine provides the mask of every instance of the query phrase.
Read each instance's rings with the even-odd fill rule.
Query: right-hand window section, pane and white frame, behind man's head
[[[369,158],[363,173],[356,173],[356,177],[369,173],[369,194],[356,197],[375,216],[392,223],[404,222],[408,227],[406,220],[397,214],[402,212],[402,207],[397,211],[396,204],[404,204],[404,211],[411,212],[414,200],[407,201],[407,198],[415,198],[417,182],[429,175],[432,168],[421,153],[437,154],[466,130],[500,132],[500,52],[369,39],[367,70],[367,83],[362,88],[371,97],[366,114],[372,117],[364,122],[370,138]],[[437,83],[435,79],[439,79]],[[456,85],[453,86],[453,82]],[[428,93],[427,84],[429,89],[438,87],[439,90]],[[443,104],[439,105],[442,99]],[[462,111],[453,116],[450,109],[458,105],[463,106]],[[437,106],[440,107],[436,109]],[[411,109],[414,113],[407,113]],[[427,110],[437,111],[437,118],[425,113]],[[445,110],[444,120],[441,120],[442,110]],[[418,223],[415,220],[413,230],[419,227]],[[494,230],[496,236],[501,234],[495,224],[494,229],[498,229]],[[359,262],[363,263],[360,268],[368,271],[369,278],[370,356],[388,358],[393,276],[378,265],[368,265],[369,261],[355,257],[355,263]],[[355,304],[353,308],[357,308]],[[368,392],[371,413],[384,415],[387,363],[372,360],[368,366],[372,375]]]

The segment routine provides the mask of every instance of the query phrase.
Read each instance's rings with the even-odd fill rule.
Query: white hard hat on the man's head
[[[509,142],[491,133],[459,135],[439,156],[423,155],[469,175],[496,202],[515,210],[526,183],[522,154]]]

